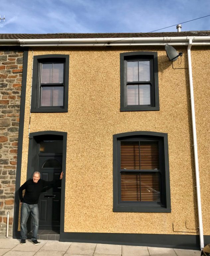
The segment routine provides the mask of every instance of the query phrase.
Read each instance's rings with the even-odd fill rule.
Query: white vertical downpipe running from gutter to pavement
[[[196,135],[196,125],[195,125],[195,105],[194,105],[193,80],[192,80],[192,63],[191,63],[191,51],[190,51],[191,46],[192,46],[192,40],[190,39],[187,47],[187,58],[188,58],[188,68],[189,68],[190,103],[191,103],[191,114],[192,114],[192,133],[193,133],[195,180],[196,180],[197,205],[198,205],[199,236],[200,236],[200,248],[202,250],[204,247],[204,239],[203,239],[203,222],[202,222],[202,210],[201,210],[199,166],[198,166],[197,135]]]

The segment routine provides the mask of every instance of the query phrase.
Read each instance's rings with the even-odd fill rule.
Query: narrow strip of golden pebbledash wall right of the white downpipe
[[[210,235],[210,47],[192,47],[191,57],[203,230]]]

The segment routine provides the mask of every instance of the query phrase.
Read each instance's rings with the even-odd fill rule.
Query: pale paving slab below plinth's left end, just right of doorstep
[[[72,243],[66,254],[93,255],[95,247],[92,243]]]

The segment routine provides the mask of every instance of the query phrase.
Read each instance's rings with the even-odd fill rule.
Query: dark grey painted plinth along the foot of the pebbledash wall
[[[20,231],[16,231],[13,238],[20,239]],[[59,241],[200,250],[199,235],[60,232]],[[204,236],[204,245],[209,243],[210,236]]]

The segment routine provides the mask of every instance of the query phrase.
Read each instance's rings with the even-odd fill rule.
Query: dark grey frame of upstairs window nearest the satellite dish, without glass
[[[151,105],[127,105],[126,94],[126,62],[127,60],[150,60],[151,63]],[[125,52],[120,53],[120,111],[152,111],[159,110],[158,89],[158,53],[157,52]]]

